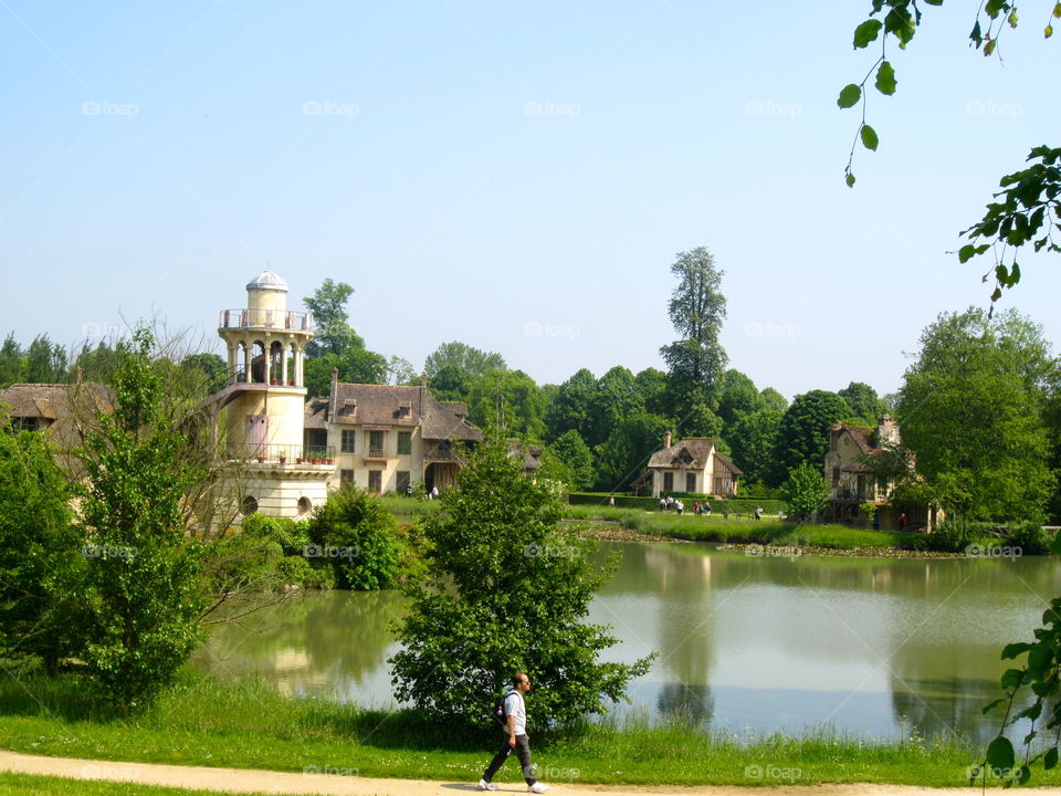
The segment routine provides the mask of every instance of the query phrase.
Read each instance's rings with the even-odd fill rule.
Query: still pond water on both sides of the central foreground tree
[[[602,543],[617,575],[590,610],[619,643],[659,652],[630,705],[735,732],[824,727],[873,737],[997,730],[999,651],[1030,640],[1055,558],[758,557],[691,544]],[[196,656],[219,677],[263,677],[286,694],[391,706],[396,593],[307,594],[214,630]],[[1009,663],[1011,666],[1011,663]]]

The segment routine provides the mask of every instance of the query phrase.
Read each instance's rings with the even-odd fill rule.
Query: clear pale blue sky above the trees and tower
[[[705,247],[731,367],[892,392],[939,313],[988,305],[959,232],[1057,144],[1050,6],[1001,62],[969,4],[926,8],[849,189],[868,0],[0,0],[0,334],[155,318],[221,353],[269,268],[288,308],[353,285],[367,346],[418,370],[460,341],[558,384],[664,368],[670,265]],[[1057,255],[1021,264],[1001,306],[1061,341]]]

